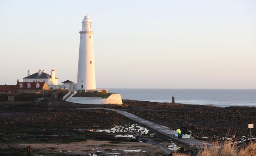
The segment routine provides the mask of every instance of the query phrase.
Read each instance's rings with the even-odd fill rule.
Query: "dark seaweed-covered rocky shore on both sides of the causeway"
[[[123,115],[103,107],[127,111],[174,130],[177,127],[185,127],[192,131],[194,138],[206,141],[223,137],[233,138],[234,135],[238,140],[242,136],[248,138],[250,136],[248,123],[254,123],[256,119],[256,107],[221,108],[135,100],[123,100],[122,105],[75,104],[52,99],[39,102],[0,103],[1,148],[5,149],[6,146],[10,147],[13,144],[67,144],[88,140],[110,141],[116,145],[124,142],[138,142],[134,138],[117,138],[111,133],[81,131],[81,129],[110,129],[116,125],[134,123]],[[124,132],[119,133],[124,134]],[[252,135],[255,136],[255,134],[256,131],[252,129]],[[169,142],[157,133],[154,139],[157,142]],[[87,146],[89,148],[93,145]],[[98,148],[104,151],[111,150],[113,147]],[[140,147],[140,149],[151,152],[159,150],[155,148],[151,145]],[[92,152],[87,150],[87,152]],[[22,152],[24,154],[24,151]],[[12,152],[5,153],[12,154]],[[4,153],[2,152],[1,155]]]

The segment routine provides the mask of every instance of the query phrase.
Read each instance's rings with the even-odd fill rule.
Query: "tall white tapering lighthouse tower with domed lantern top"
[[[82,29],[79,32],[78,90],[96,89],[93,43],[94,32],[92,31],[91,24],[92,22],[88,14],[86,14],[82,20]]]

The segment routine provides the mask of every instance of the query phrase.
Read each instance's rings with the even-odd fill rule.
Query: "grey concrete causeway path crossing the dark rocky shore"
[[[181,143],[183,145],[186,145],[187,147],[192,147],[192,148],[199,148],[199,147],[209,148],[210,146],[213,146],[212,144],[209,144],[209,143],[206,143],[206,142],[194,139],[194,138],[179,138],[178,139],[175,136],[175,130],[171,130],[170,128],[165,127],[163,125],[159,125],[159,124],[156,124],[154,122],[150,122],[148,120],[142,119],[142,118],[137,117],[136,115],[128,113],[126,111],[120,111],[120,110],[116,110],[116,109],[111,109],[111,110],[115,111],[115,112],[117,112],[119,114],[122,114],[122,115],[126,116],[127,118],[132,119],[135,122],[144,125],[145,127],[153,129],[153,130],[157,131],[158,133],[160,133],[160,134],[162,134],[164,136],[167,136],[167,137],[171,138],[172,140],[175,140],[176,142],[179,142],[179,143]]]

